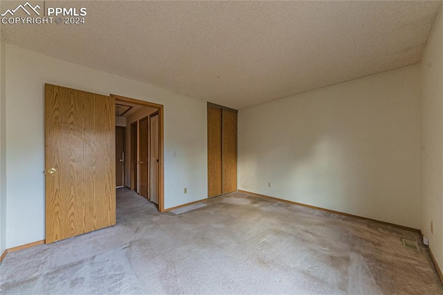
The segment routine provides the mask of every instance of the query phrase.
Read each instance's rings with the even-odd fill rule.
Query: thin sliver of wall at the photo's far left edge
[[[6,249],[6,56],[0,37],[0,255]]]

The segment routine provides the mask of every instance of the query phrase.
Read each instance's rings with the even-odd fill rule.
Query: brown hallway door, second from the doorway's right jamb
[[[140,169],[140,191],[139,194],[149,199],[149,116],[138,122],[138,167]]]

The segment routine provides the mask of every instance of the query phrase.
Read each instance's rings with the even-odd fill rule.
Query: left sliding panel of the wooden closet
[[[221,109],[208,107],[208,197],[221,193]]]

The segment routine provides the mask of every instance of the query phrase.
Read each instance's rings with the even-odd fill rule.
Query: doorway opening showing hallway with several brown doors
[[[163,212],[163,105],[111,97],[116,100],[116,179],[123,179],[116,187],[136,191]],[[123,152],[118,147],[122,133]]]

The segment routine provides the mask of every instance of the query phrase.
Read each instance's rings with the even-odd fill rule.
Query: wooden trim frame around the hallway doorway
[[[164,136],[164,122],[163,118],[165,116],[163,105],[159,105],[154,102],[147,102],[145,100],[137,100],[134,98],[127,98],[125,96],[118,96],[116,94],[111,94],[111,97],[118,99],[121,102],[134,103],[136,105],[144,105],[147,107],[156,107],[159,109],[159,211],[165,212],[165,166],[163,165],[165,161],[165,136]]]

